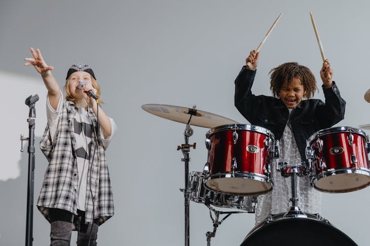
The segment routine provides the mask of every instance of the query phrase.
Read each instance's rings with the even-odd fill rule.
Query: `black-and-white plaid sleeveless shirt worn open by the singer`
[[[67,210],[77,215],[78,172],[74,153],[73,124],[76,111],[77,108],[73,102],[63,100],[54,140],[51,141],[48,125],[40,140],[40,149],[49,164],[45,171],[37,208],[49,222],[50,208]],[[95,138],[99,130],[97,129],[97,118],[90,107],[88,107],[88,115],[94,125],[94,131],[91,137],[92,146],[87,174],[85,221],[86,223],[93,221],[93,201],[89,189],[91,183],[95,207],[94,219],[99,218],[99,225],[101,225],[114,213],[111,180],[105,150],[99,137],[98,146],[96,146]],[[96,151],[93,156],[94,148]],[[91,168],[93,169],[90,170]]]

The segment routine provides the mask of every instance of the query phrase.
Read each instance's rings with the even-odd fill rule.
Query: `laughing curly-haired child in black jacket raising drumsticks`
[[[258,62],[259,52],[251,51],[235,80],[235,107],[251,124],[269,129],[275,140],[280,141],[279,162],[296,166],[306,160],[306,140],[344,118],[346,102],[332,81],[333,70],[328,60],[320,70],[325,102],[311,99],[317,90],[316,79],[309,68],[296,62],[281,64],[270,71],[273,96],[254,95],[251,89]],[[275,166],[271,170],[274,186],[272,191],[259,196],[256,224],[267,215],[285,213],[290,207],[291,179],[282,177]],[[297,194],[303,212],[320,213],[320,192],[314,190],[308,176],[297,178]]]

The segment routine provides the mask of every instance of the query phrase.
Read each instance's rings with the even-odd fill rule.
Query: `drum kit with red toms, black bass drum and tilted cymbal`
[[[286,213],[268,215],[248,233],[241,246],[271,245],[272,238],[282,238],[287,233],[289,239],[284,245],[356,245],[327,219],[299,209],[296,179],[308,175],[315,189],[329,193],[350,192],[370,185],[370,142],[363,130],[341,126],[317,131],[306,141],[307,160],[294,166],[279,162],[279,141],[263,127],[239,124],[195,106],[144,104],[142,108],[186,124],[185,144],[177,148],[185,162],[185,188],[180,189],[185,199],[185,246],[189,246],[189,201],[209,208],[213,231],[207,232],[206,237],[210,246],[218,226],[229,215],[255,213],[258,195],[273,189],[272,168],[291,178],[292,205]],[[206,133],[207,162],[201,172],[189,173],[189,152],[196,148],[195,143],[189,144],[191,125],[211,128]],[[370,129],[369,125],[360,127]],[[225,216],[220,220],[220,215]]]

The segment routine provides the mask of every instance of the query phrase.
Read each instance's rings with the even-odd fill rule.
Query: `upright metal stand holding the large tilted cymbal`
[[[192,109],[189,108],[188,114],[190,115],[189,121],[187,122],[185,126],[184,131],[184,138],[185,138],[185,144],[182,144],[181,146],[177,147],[177,150],[181,150],[181,152],[184,155],[184,158],[181,159],[181,161],[185,162],[185,188],[180,189],[181,192],[184,192],[184,204],[185,204],[185,246],[190,245],[190,226],[189,226],[189,201],[190,201],[190,192],[191,189],[189,187],[189,152],[190,147],[195,149],[196,143],[189,145],[189,137],[193,135],[193,129],[190,127],[191,117],[196,115],[196,105],[193,106]]]

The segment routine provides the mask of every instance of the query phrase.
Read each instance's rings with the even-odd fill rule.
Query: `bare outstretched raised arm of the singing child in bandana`
[[[51,74],[51,70],[54,69],[53,66],[48,66],[46,62],[43,60],[41,56],[41,52],[39,49],[31,48],[31,54],[34,58],[25,58],[24,60],[27,61],[25,66],[33,65],[36,71],[41,75],[42,80],[47,89],[47,95],[49,97],[49,102],[53,109],[57,109],[59,99],[61,97],[60,88],[58,86],[57,81],[55,80],[54,76]]]

